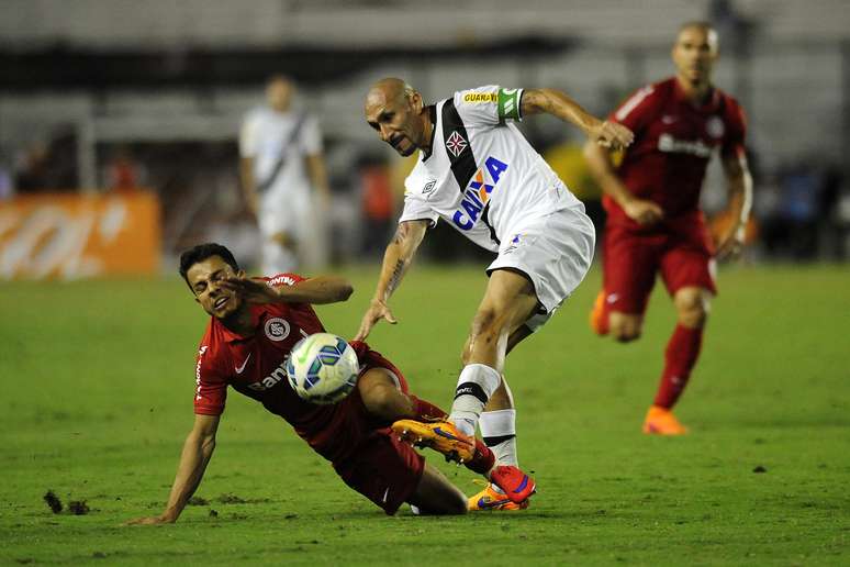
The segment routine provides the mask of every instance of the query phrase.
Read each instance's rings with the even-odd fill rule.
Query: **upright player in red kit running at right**
[[[609,120],[629,127],[635,143],[614,167],[596,144],[585,146],[608,213],[603,240],[603,289],[591,326],[615,340],[638,338],[649,293],[660,273],[676,311],[664,369],[644,432],[686,433],[671,409],[687,383],[703,341],[714,282],[714,257],[734,256],[743,243],[752,202],[745,155],[746,121],[738,102],[712,85],[717,32],[690,22],[672,51],[676,75],[639,89]],[[719,151],[731,223],[713,243],[698,209],[708,160]],[[716,248],[715,248],[716,244]]]

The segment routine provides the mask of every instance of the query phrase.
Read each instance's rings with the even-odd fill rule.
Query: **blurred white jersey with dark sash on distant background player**
[[[299,131],[293,137],[293,130]],[[315,119],[295,112],[276,112],[261,107],[245,116],[239,133],[239,154],[254,158],[254,179],[258,186],[271,185],[261,196],[292,196],[309,193],[310,178],[304,156],[322,153],[322,135]],[[283,157],[283,165],[277,174],[277,164]]]

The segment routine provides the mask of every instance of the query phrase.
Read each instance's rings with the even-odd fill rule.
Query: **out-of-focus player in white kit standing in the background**
[[[267,105],[246,115],[239,135],[242,187],[262,237],[264,274],[326,258],[329,187],[322,135],[314,118],[293,108],[294,93],[291,80],[271,77]]]

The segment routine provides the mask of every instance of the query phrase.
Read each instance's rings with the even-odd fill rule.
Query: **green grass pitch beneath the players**
[[[345,271],[350,335],[377,266]],[[103,565],[849,565],[850,267],[720,274],[701,363],[678,414],[692,434],[640,434],[673,312],[657,291],[644,337],[593,336],[593,273],[507,362],[525,512],[385,516],[279,419],[231,392],[197,496],[159,513],[192,416],[205,315],[178,279],[0,285],[0,562]],[[449,405],[483,291],[471,268],[417,266],[398,326],[370,342]],[[472,475],[428,454],[465,492]],[[756,472],[762,467],[764,472]],[[90,512],[51,512],[53,490]]]

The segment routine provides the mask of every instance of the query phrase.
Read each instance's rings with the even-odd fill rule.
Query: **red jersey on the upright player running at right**
[[[703,107],[693,105],[675,78],[636,91],[609,120],[635,133],[618,174],[628,190],[651,200],[666,220],[696,213],[708,160],[716,148],[723,156],[742,155],[746,119],[738,102],[719,89]],[[608,221],[637,226],[605,196]]]

